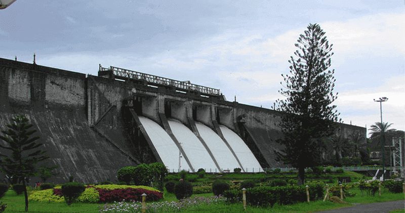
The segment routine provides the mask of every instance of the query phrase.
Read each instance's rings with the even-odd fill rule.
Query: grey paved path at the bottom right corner
[[[338,208],[328,211],[319,211],[319,212],[328,212],[328,213],[340,213],[340,212],[368,212],[368,213],[382,213],[389,212],[396,209],[405,209],[405,200],[389,201],[389,202],[380,202],[380,203],[368,203],[368,204],[358,204],[351,207]],[[405,212],[405,210],[404,210]]]

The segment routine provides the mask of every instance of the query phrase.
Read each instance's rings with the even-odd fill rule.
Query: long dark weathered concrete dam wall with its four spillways
[[[170,171],[285,166],[274,154],[282,149],[275,143],[282,136],[279,112],[116,67],[86,76],[0,58],[0,109],[2,129],[13,115],[30,119],[50,156],[47,165],[58,166],[54,182],[70,175],[86,183],[116,181],[120,167],[150,162]],[[362,127],[341,129],[345,137],[366,135]]]

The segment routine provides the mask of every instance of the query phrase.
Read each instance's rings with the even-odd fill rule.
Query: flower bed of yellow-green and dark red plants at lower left
[[[88,185],[85,191],[76,199],[77,202],[97,203],[123,200],[141,201],[141,195],[147,194],[148,201],[163,199],[163,193],[146,186],[128,185]],[[64,202],[60,186],[53,189],[41,190],[32,193],[30,200],[39,202]]]

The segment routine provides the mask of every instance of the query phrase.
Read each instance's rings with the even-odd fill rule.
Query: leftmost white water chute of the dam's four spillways
[[[139,116],[139,120],[165,166],[170,171],[177,171],[179,169],[179,148],[172,138],[156,122],[142,116]],[[186,160],[181,158],[181,169],[188,170],[189,168]]]

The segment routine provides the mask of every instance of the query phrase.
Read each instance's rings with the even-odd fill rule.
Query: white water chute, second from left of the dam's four
[[[192,167],[194,167],[195,170],[204,168],[207,172],[209,172],[210,169],[212,172],[215,172],[217,167],[197,136],[180,121],[170,119],[169,125],[174,136],[179,143],[181,143]]]

